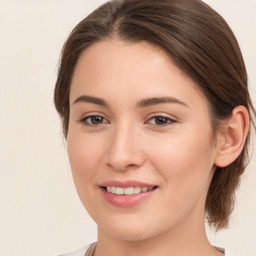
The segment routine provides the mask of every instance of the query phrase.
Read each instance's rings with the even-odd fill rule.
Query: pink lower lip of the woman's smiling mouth
[[[103,187],[100,187],[100,190],[104,198],[109,203],[119,207],[132,207],[146,200],[150,195],[152,195],[155,192],[156,188],[150,191],[130,195],[110,193],[107,192]]]

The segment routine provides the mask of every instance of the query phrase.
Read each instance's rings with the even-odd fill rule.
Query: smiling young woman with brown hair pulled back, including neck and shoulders
[[[54,102],[97,243],[65,255],[232,255],[255,109],[235,36],[200,0],[113,0],[62,50]]]

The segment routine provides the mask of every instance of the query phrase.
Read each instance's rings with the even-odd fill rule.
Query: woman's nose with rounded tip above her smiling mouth
[[[141,148],[141,135],[130,126],[115,129],[109,140],[107,164],[123,171],[141,166],[145,157]]]

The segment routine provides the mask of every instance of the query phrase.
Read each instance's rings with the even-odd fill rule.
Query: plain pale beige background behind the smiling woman
[[[0,256],[53,256],[96,239],[72,182],[52,90],[66,36],[99,2],[0,0]],[[255,103],[256,1],[206,2],[238,38]],[[256,255],[255,167],[254,154],[230,229],[209,234],[236,256]]]

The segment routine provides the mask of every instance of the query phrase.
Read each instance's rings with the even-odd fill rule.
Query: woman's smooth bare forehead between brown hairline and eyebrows
[[[105,92],[109,90],[118,98],[169,93],[190,95],[188,101],[191,93],[202,97],[194,81],[163,50],[145,41],[100,41],[81,53],[73,74],[70,101],[84,93],[107,97]]]

